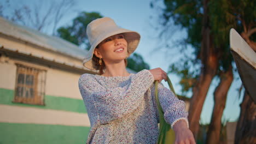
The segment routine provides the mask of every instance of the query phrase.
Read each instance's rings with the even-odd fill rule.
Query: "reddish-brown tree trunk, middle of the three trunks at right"
[[[206,143],[219,143],[220,129],[222,127],[222,114],[226,105],[226,95],[233,81],[232,65],[228,71],[220,74],[220,83],[214,92],[214,108],[211,123],[207,131]]]

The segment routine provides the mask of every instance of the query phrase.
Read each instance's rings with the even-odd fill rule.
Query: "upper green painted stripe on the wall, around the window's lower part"
[[[16,105],[16,106],[31,106],[31,107],[37,107],[39,109],[53,109],[53,110],[87,113],[84,106],[84,101],[79,99],[45,95],[45,98],[44,98],[45,105],[42,106],[42,105],[13,103],[13,98],[14,98],[14,90],[0,88],[0,104]]]

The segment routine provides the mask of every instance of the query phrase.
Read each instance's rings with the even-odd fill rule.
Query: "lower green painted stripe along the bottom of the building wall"
[[[86,143],[89,127],[0,123],[1,144]]]

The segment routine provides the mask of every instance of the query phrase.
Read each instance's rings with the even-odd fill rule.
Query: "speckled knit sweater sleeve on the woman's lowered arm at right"
[[[155,87],[152,89],[152,95],[155,97]],[[158,84],[159,103],[164,111],[165,121],[173,125],[181,119],[188,124],[188,112],[185,110],[186,104],[183,100],[179,100],[170,89],[164,87],[162,83]]]

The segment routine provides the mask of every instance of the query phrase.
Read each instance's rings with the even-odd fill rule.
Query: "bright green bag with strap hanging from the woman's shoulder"
[[[171,82],[171,80],[169,79],[168,76],[167,76],[167,83],[168,83],[168,86],[170,87],[171,91],[177,97],[177,95],[176,95],[176,93],[174,91],[174,88],[172,86],[172,82]],[[159,131],[158,143],[165,143],[165,140],[169,138],[169,137],[166,137],[166,133],[167,133],[167,131],[172,131],[172,129],[171,129],[171,125],[167,124],[165,122],[164,111],[162,110],[162,107],[161,107],[160,102],[159,102],[159,98],[158,98],[158,81],[155,81],[155,99],[156,99],[156,104],[158,105],[158,112],[159,112],[159,118],[160,118],[160,128],[159,128],[160,131]],[[173,132],[173,134],[174,134],[174,132]],[[174,142],[174,137],[173,137],[172,141]]]

